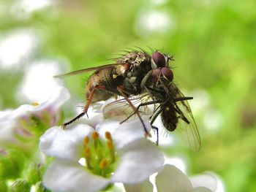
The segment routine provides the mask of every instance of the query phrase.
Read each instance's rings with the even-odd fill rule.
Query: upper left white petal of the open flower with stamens
[[[54,126],[40,137],[39,148],[46,155],[78,160],[83,149],[83,139],[93,131],[87,125],[79,124],[63,130]]]

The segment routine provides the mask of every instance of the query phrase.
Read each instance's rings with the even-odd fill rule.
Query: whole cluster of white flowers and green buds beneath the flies
[[[0,189],[90,192],[107,191],[117,183],[128,192],[216,189],[212,176],[202,176],[199,182],[198,177],[189,180],[176,166],[165,165],[164,153],[145,137],[139,119],[120,124],[119,120],[103,118],[102,110],[98,110],[65,130],[56,126],[63,123],[59,109],[67,99],[69,92],[60,88],[42,104],[0,113],[0,143],[4,149],[0,150]],[[150,132],[150,123],[142,118]],[[29,139],[39,142],[44,158],[35,155],[38,149],[26,148],[23,153],[19,144]],[[4,148],[10,143],[21,147]],[[149,180],[152,177],[154,181]]]

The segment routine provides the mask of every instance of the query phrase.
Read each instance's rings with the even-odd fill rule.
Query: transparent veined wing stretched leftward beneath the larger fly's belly
[[[149,97],[146,95],[129,97],[129,100],[136,108],[143,102],[148,101],[148,99]],[[126,99],[118,99],[116,101],[112,101],[108,104],[105,104],[105,106],[102,108],[103,116],[108,119],[119,120],[121,122],[129,122],[137,118],[135,111],[132,109]],[[140,112],[140,115],[152,115],[151,107],[148,107],[148,105],[140,106],[138,111]]]

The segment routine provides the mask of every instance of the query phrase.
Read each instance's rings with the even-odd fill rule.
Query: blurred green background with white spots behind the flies
[[[174,55],[175,80],[202,137],[190,175],[212,171],[226,191],[256,191],[256,3],[247,1],[0,1],[0,109],[47,98],[53,74],[109,64],[135,46]],[[86,77],[69,77],[70,114]],[[161,141],[160,141],[161,143]]]

